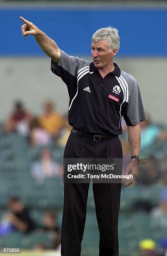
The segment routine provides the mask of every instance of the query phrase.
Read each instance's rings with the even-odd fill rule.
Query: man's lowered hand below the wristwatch
[[[137,159],[132,159],[131,162],[127,166],[127,169],[126,169],[124,175],[130,175],[130,174],[132,174],[133,178],[129,179],[129,181],[125,183],[125,187],[130,186],[136,180],[136,177],[137,177],[137,174],[138,174],[138,161],[137,161]]]

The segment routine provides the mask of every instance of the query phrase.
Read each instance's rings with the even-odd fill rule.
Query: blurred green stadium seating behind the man
[[[34,161],[40,159],[42,147],[30,147],[27,137],[18,133],[4,133],[0,125],[0,219],[1,223],[7,212],[7,202],[12,196],[20,198],[21,202],[30,209],[31,217],[37,227],[41,227],[46,210],[55,212],[57,225],[61,227],[63,207],[62,177],[47,177],[42,183],[33,179],[30,168]],[[123,138],[123,137],[122,137]],[[163,142],[165,143],[165,142]],[[49,145],[53,159],[61,162],[64,148],[57,146],[55,141]],[[161,151],[163,147],[161,148]],[[165,154],[165,152],[164,152]],[[153,239],[156,243],[166,236],[166,229],[150,222],[150,210],[156,207],[164,184],[135,184],[128,188],[122,187],[119,238],[120,250],[125,248],[136,250],[143,239]],[[99,233],[95,216],[92,184],[90,184],[87,202],[87,219],[83,237],[82,254],[98,251]],[[27,235],[12,231],[0,235],[0,247],[18,246],[35,248],[43,246],[53,248],[54,236],[50,232],[37,230]],[[123,254],[122,254],[123,255]]]

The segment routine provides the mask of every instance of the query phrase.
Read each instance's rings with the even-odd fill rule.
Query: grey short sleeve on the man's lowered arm
[[[142,101],[140,88],[135,79],[130,83],[129,102],[123,114],[127,125],[136,125],[143,120],[147,120],[147,114]]]

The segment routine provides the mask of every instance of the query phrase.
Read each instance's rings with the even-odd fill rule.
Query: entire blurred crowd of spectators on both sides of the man
[[[141,127],[141,157],[145,164],[140,166],[140,175],[137,182],[140,184],[159,184],[164,189],[160,195],[159,205],[153,207],[149,203],[135,202],[138,207],[150,213],[152,225],[167,227],[167,127],[163,123],[152,123],[149,117],[147,121],[140,123]],[[37,183],[42,183],[50,177],[61,177],[63,173],[62,162],[52,158],[50,145],[64,149],[72,127],[68,124],[68,115],[60,115],[55,110],[52,100],[46,100],[43,104],[42,114],[35,116],[30,113],[21,101],[17,101],[9,117],[2,123],[4,134],[17,133],[25,136],[30,149],[41,147],[40,160],[33,161],[30,173]],[[127,125],[122,118],[122,142],[123,170],[130,162],[130,148],[127,139]],[[123,186],[122,186],[123,189]],[[55,213],[46,212],[41,227],[37,227],[31,219],[28,208],[17,197],[11,197],[7,202],[8,212],[0,224],[0,236],[4,236],[12,230],[22,233],[37,229],[40,232],[50,230],[55,233],[52,248],[60,246],[60,227],[57,226]],[[7,225],[4,225],[7,223]],[[3,225],[2,225],[3,224]],[[160,241],[167,248],[167,236]],[[146,246],[147,245],[147,246]],[[44,248],[42,243],[37,248]],[[139,245],[143,255],[160,255],[155,252],[154,241],[142,241]],[[154,251],[154,252],[153,252]],[[150,253],[150,254],[149,254]],[[164,255],[164,254],[162,254]]]

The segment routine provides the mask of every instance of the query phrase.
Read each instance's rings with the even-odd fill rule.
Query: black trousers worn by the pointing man
[[[122,146],[117,136],[105,141],[93,141],[71,133],[65,147],[64,158],[122,158]],[[89,185],[88,183],[64,184],[62,256],[80,256]],[[99,256],[119,256],[120,193],[120,183],[93,183],[100,233]]]

